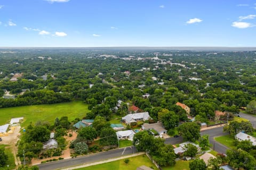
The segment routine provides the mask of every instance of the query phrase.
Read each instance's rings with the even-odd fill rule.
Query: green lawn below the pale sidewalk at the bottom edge
[[[130,160],[128,164],[125,164],[124,159],[121,159],[110,163],[79,168],[77,170],[135,170],[137,167],[140,167],[142,165],[157,169],[156,166],[153,163],[151,163],[151,161],[148,159],[146,155],[140,155],[128,159]]]

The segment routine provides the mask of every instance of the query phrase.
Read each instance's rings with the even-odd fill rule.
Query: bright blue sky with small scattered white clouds
[[[1,47],[256,46],[256,0],[1,0]]]

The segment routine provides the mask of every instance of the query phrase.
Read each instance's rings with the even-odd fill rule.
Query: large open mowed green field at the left
[[[18,117],[24,117],[22,127],[27,127],[30,123],[34,124],[37,120],[46,120],[52,124],[57,117],[68,116],[68,120],[71,121],[77,117],[82,119],[87,112],[87,104],[82,101],[1,108],[0,125],[9,123],[11,118]]]

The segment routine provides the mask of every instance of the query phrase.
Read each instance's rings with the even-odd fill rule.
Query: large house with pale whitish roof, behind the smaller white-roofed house
[[[129,115],[122,117],[122,121],[126,124],[130,124],[132,122],[137,122],[139,120],[145,121],[148,119],[150,119],[148,112],[141,112],[138,114],[129,114]]]

